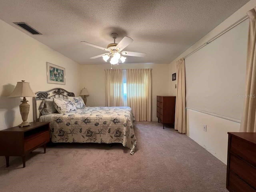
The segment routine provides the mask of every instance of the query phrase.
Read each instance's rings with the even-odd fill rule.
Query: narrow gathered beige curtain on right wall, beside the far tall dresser
[[[181,58],[177,61],[177,92],[175,107],[174,129],[180,133],[186,133],[186,84],[185,84],[185,61]]]

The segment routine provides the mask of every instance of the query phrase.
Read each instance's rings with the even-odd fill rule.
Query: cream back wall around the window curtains
[[[80,88],[87,88],[87,106],[105,106],[105,72],[109,64],[81,65]],[[156,96],[168,95],[168,64],[119,64],[113,68],[152,68],[152,120],[156,121]]]

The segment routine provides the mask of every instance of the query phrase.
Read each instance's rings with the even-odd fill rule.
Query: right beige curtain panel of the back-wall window
[[[151,121],[152,69],[127,69],[127,104],[136,121]]]

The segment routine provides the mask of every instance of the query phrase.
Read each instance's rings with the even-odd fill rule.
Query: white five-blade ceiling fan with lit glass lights
[[[92,43],[88,43],[85,41],[81,41],[82,43],[92,46],[92,47],[96,47],[98,49],[102,49],[104,51],[108,51],[109,53],[106,54],[101,54],[101,55],[97,55],[94,57],[91,57],[90,59],[96,59],[99,57],[102,57],[104,61],[108,61],[109,58],[110,59],[110,64],[111,65],[115,65],[118,64],[119,60],[124,63],[126,60],[126,57],[124,56],[134,56],[134,57],[144,57],[146,55],[146,53],[140,53],[140,52],[130,52],[130,51],[122,51],[124,48],[126,48],[129,44],[131,44],[133,42],[132,38],[125,36],[118,44],[116,43],[116,38],[118,36],[117,33],[112,33],[111,34],[113,39],[114,39],[114,43],[110,43],[108,44],[107,48],[103,48],[100,47],[98,45],[94,45]],[[121,56],[124,55],[124,56]]]

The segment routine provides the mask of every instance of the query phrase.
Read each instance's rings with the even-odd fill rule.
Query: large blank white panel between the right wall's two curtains
[[[241,120],[248,20],[185,59],[186,107]]]

